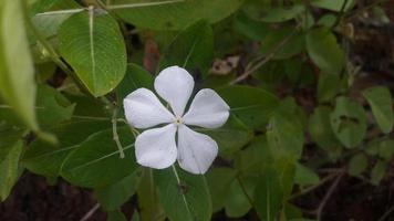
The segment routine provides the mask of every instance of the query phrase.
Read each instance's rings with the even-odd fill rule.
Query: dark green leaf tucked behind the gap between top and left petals
[[[153,90],[152,74],[137,64],[128,64],[126,75],[117,86],[120,103],[129,93],[141,87]]]

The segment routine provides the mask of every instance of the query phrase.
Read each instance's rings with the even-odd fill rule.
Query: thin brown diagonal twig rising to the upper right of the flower
[[[267,62],[269,62],[274,55],[276,53],[297,33],[298,27],[294,28],[294,30],[287,35],[281,42],[279,42],[279,44],[277,44],[270,52],[268,52],[268,54],[265,55],[265,59],[261,60],[260,62],[258,62],[255,66],[247,66],[246,71],[238,76],[236,80],[230,82],[230,85],[232,84],[237,84],[243,80],[246,80],[250,74],[252,74],[256,70],[260,69],[262,65],[265,65]]]

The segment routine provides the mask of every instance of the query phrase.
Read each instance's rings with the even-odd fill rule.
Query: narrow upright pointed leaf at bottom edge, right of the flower
[[[282,204],[283,192],[277,171],[268,168],[255,191],[255,209],[263,221],[276,220]]]

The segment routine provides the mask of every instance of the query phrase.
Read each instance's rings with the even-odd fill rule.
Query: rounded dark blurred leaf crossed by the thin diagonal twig
[[[294,27],[283,27],[278,30],[270,30],[270,32],[261,40],[261,52],[263,54],[269,54],[272,52],[281,42],[288,38],[292,32]],[[296,54],[301,53],[305,49],[304,34],[297,32],[293,34],[280,49],[274,53],[274,59],[289,59]]]

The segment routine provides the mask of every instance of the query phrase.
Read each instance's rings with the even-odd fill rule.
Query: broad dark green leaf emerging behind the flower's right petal
[[[230,106],[230,113],[245,125],[263,130],[278,98],[267,91],[250,86],[228,86],[218,90],[219,95]]]

